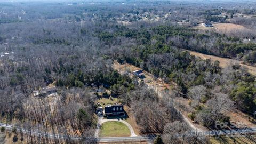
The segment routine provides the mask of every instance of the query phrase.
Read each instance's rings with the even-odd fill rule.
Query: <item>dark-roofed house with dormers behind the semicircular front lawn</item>
[[[104,112],[105,116],[123,115],[124,105],[107,105]]]

